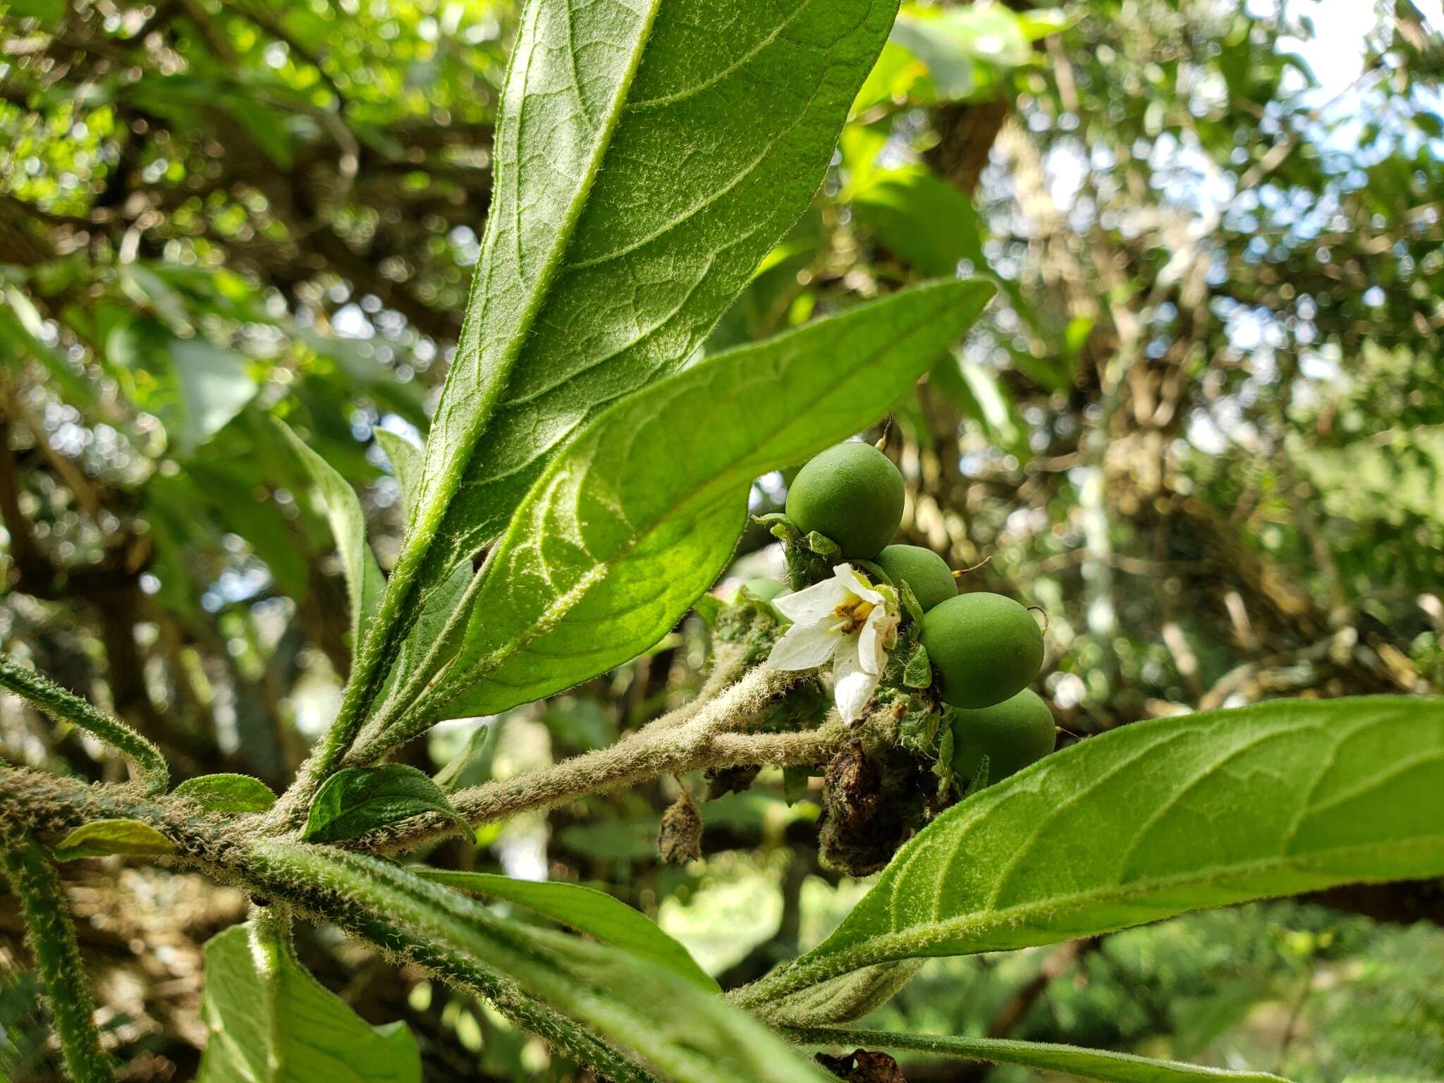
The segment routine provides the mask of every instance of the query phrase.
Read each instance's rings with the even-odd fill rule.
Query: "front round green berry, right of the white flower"
[[[923,645],[954,708],[991,708],[1015,696],[1043,666],[1043,628],[1001,593],[960,593],[923,615]]]

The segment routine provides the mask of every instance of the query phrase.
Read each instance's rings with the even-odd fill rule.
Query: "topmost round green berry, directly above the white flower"
[[[838,443],[809,459],[787,490],[787,517],[843,556],[871,560],[902,521],[902,475],[871,443]]]

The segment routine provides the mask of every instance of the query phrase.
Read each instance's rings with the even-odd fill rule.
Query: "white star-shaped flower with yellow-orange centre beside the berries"
[[[838,565],[823,579],[773,602],[793,627],[773,647],[774,670],[810,670],[832,658],[833,699],[849,726],[862,718],[898,627],[897,595]]]

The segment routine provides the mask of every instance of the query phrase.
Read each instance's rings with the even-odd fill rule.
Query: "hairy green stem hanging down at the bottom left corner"
[[[9,774],[9,773],[7,773]],[[6,878],[20,898],[26,943],[45,983],[55,1035],[75,1083],[108,1083],[116,1066],[100,1045],[95,1005],[75,944],[69,902],[55,866],[33,839],[0,851]]]

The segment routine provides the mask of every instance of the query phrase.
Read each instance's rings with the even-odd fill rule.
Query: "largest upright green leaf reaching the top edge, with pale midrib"
[[[417,576],[443,583],[602,406],[697,352],[806,209],[895,9],[527,4],[481,261],[383,618],[390,647],[419,611]]]

